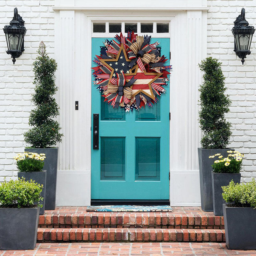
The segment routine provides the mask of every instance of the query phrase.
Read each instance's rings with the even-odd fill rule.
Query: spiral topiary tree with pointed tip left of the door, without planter
[[[53,95],[58,91],[55,85],[57,63],[51,59],[45,50],[45,44],[40,43],[38,56],[33,63],[36,85],[32,102],[36,108],[31,111],[29,125],[32,128],[24,133],[25,141],[33,148],[49,148],[61,142],[60,124],[53,120],[59,115],[59,106]]]

